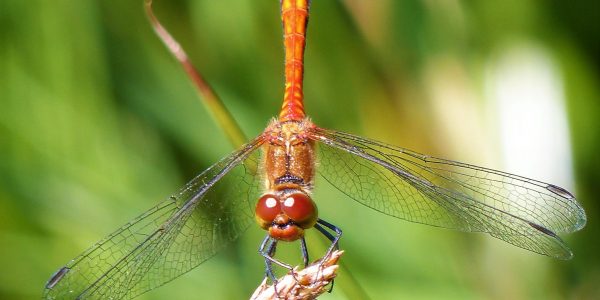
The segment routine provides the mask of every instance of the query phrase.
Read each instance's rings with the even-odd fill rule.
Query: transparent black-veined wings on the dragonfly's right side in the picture
[[[569,259],[555,232],[573,232],[585,212],[552,184],[435,158],[347,133],[314,128],[320,174],[354,200],[400,219],[486,232],[518,247]]]

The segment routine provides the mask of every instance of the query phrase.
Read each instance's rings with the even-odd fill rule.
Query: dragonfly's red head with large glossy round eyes
[[[256,203],[256,221],[269,235],[283,241],[295,241],[304,230],[317,222],[317,206],[299,191],[265,194]]]

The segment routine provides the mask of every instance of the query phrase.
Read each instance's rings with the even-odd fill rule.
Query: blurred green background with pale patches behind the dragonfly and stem
[[[599,6],[313,1],[315,123],[553,182],[588,215],[565,237],[575,257],[558,261],[319,187],[320,214],[344,229],[343,261],[370,297],[600,298]],[[278,1],[157,1],[155,11],[245,133],[259,134],[283,94]],[[0,25],[0,298],[34,299],[56,269],[233,148],[141,0],[2,0]],[[248,298],[262,236],[251,228],[140,299]],[[349,298],[342,287],[323,297]]]

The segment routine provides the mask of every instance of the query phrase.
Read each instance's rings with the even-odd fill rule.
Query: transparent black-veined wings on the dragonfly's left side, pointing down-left
[[[188,272],[253,222],[254,140],[61,268],[46,299],[130,299]]]

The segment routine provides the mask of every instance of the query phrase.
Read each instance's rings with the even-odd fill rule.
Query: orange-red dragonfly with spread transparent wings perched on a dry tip
[[[566,189],[315,125],[303,97],[310,1],[281,0],[280,7],[285,90],[279,116],[173,196],[60,268],[44,298],[134,298],[207,261],[253,223],[267,231],[259,248],[267,276],[273,263],[287,266],[274,258],[278,242],[299,241],[306,265],[307,230],[329,239],[329,252],[342,233],[319,217],[313,199],[317,176],[391,217],[487,233],[542,255],[572,257],[558,234],[583,228],[586,215]],[[150,17],[182,60],[183,50]]]

